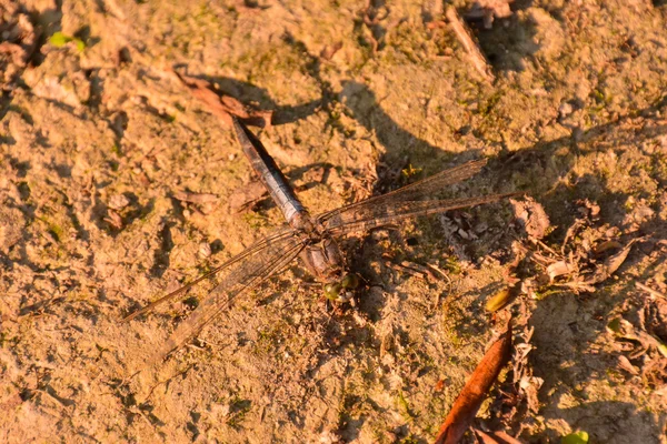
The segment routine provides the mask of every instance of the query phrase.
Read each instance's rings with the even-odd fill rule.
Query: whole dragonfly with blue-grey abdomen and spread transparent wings
[[[243,153],[287,223],[202,276],[126,317],[126,321],[133,320],[161,304],[185,297],[189,289],[205,280],[217,279],[212,291],[203,296],[198,306],[157,351],[153,362],[162,361],[188,343],[207,324],[221,315],[235,299],[288,269],[297,258],[316,280],[323,284],[322,290],[327,299],[340,303],[349,302],[359,290],[360,278],[349,269],[339,246],[339,241],[345,235],[516,195],[505,193],[437,199],[438,191],[477,174],[486,164],[486,160],[477,160],[396,191],[312,216],[257,135],[236,118],[232,118],[232,125]]]

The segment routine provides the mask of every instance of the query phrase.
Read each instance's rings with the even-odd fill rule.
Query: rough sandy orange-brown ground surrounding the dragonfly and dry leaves
[[[281,223],[266,200],[229,205],[250,169],[178,69],[273,111],[262,140],[313,213],[485,157],[446,195],[526,192],[551,246],[581,199],[624,242],[650,235],[593,293],[521,297],[544,383],[502,426],[527,442],[667,442],[667,377],[647,370],[659,354],[628,359],[608,327],[644,322],[637,282],[666,290],[664,2],[517,0],[475,31],[492,84],[437,1],[0,9],[0,39],[27,54],[1,53],[0,441],[430,442],[492,336],[484,304],[526,240],[507,203],[352,238],[368,281],[357,309],[332,311],[295,268],[136,374],[195,302],[120,319]],[[439,265],[451,284],[397,272],[385,253]],[[478,426],[498,426],[491,404]]]

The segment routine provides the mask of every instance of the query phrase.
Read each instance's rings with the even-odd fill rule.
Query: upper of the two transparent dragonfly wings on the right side
[[[486,159],[464,163],[462,165],[441,171],[390,193],[366,199],[320,214],[317,218],[317,221],[327,225],[329,220],[347,220],[350,218],[350,214],[358,214],[359,218],[364,218],[365,214],[374,212],[377,208],[388,208],[400,202],[419,201],[428,198],[432,199],[434,194],[441,191],[445,186],[452,185],[477,174],[486,163]],[[328,223],[329,226],[336,224],[335,221]]]

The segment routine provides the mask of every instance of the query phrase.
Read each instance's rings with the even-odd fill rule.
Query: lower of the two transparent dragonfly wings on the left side
[[[195,337],[243,292],[265,282],[285,269],[301,252],[305,243],[298,236],[280,239],[269,246],[249,254],[230,268],[220,283],[200,302],[199,306],[181,322],[167,343],[155,354],[151,363],[167,355]]]

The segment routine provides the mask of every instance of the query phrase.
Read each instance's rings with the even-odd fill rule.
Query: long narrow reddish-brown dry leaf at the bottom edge
[[[455,444],[460,441],[510,356],[511,324],[508,324],[507,331],[486,352],[454,402],[451,411],[440,426],[436,444]]]

